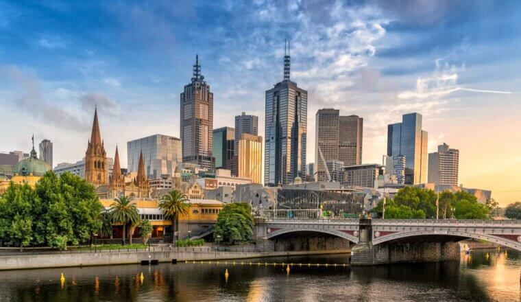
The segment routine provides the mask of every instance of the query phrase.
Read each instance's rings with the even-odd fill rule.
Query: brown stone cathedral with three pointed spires
[[[150,186],[145,174],[143,153],[139,156],[137,175],[134,178],[130,178],[130,181],[125,181],[125,176],[121,174],[119,152],[116,147],[112,175],[108,176],[107,154],[104,141],[101,140],[97,109],[94,111],[93,130],[85,153],[85,179],[88,183],[95,186],[96,194],[99,198],[118,198],[120,196],[150,197]]]

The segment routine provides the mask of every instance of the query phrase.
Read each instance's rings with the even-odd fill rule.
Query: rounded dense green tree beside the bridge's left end
[[[249,242],[253,237],[254,219],[252,207],[245,202],[225,205],[219,212],[213,233],[214,240],[229,244]]]

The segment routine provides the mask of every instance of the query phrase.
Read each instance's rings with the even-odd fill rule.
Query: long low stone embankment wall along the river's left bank
[[[98,251],[97,253],[49,253],[43,255],[0,256],[0,270],[27,270],[33,268],[65,268],[75,266],[108,266],[158,262],[213,261],[297,255],[347,254],[350,250],[298,252],[215,252],[215,251]]]

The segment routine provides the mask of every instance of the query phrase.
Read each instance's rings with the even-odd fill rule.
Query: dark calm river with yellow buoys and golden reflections
[[[459,262],[343,264],[347,255],[5,271],[0,301],[520,301],[517,251],[474,251]]]

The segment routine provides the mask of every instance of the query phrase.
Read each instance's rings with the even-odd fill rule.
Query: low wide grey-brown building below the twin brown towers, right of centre
[[[349,165],[342,168],[341,185],[378,189],[378,176],[383,175],[383,166],[376,163]]]

